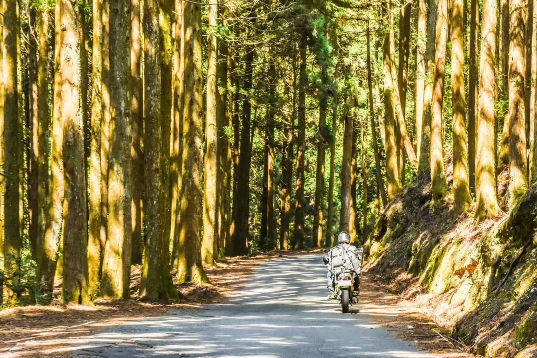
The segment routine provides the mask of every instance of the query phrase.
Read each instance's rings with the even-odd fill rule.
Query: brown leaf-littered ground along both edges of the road
[[[170,309],[202,309],[206,303],[218,303],[231,297],[245,284],[253,268],[282,256],[311,253],[271,252],[255,257],[230,258],[209,268],[211,284],[178,286],[185,299],[176,303],[141,303],[136,300],[98,301],[95,306],[31,306],[0,311],[0,357],[66,357],[61,348],[72,339],[92,332],[125,324],[141,317],[162,316]],[[139,270],[133,266],[133,287]],[[368,277],[362,285],[360,312],[375,324],[386,327],[402,340],[411,341],[437,357],[471,357],[464,347],[448,338],[432,320],[410,301],[388,294],[381,280]],[[47,352],[43,354],[43,346]]]

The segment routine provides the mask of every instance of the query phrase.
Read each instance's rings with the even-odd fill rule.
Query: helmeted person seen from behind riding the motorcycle
[[[353,292],[355,295],[360,293],[360,274],[361,274],[361,263],[364,256],[364,249],[357,249],[354,245],[350,244],[351,235],[346,232],[341,232],[337,236],[337,245],[328,251],[323,258],[323,262],[328,266],[328,272],[326,273],[326,286],[328,288],[328,298],[333,298],[335,292],[335,280],[333,277],[333,263],[332,257],[335,255],[335,252],[341,252],[343,249],[345,262],[350,263],[350,270],[354,274],[354,286]]]

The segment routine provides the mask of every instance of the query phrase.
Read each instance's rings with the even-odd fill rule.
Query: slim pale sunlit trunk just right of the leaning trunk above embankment
[[[466,3],[466,0],[465,0]],[[418,161],[422,157],[422,132],[423,132],[423,91],[425,87],[425,46],[427,42],[427,3],[426,0],[418,0],[418,31],[416,44],[416,156]],[[374,131],[374,126],[372,130]],[[418,172],[419,174],[419,172]],[[380,185],[379,185],[380,186]],[[386,205],[386,204],[384,204]]]

